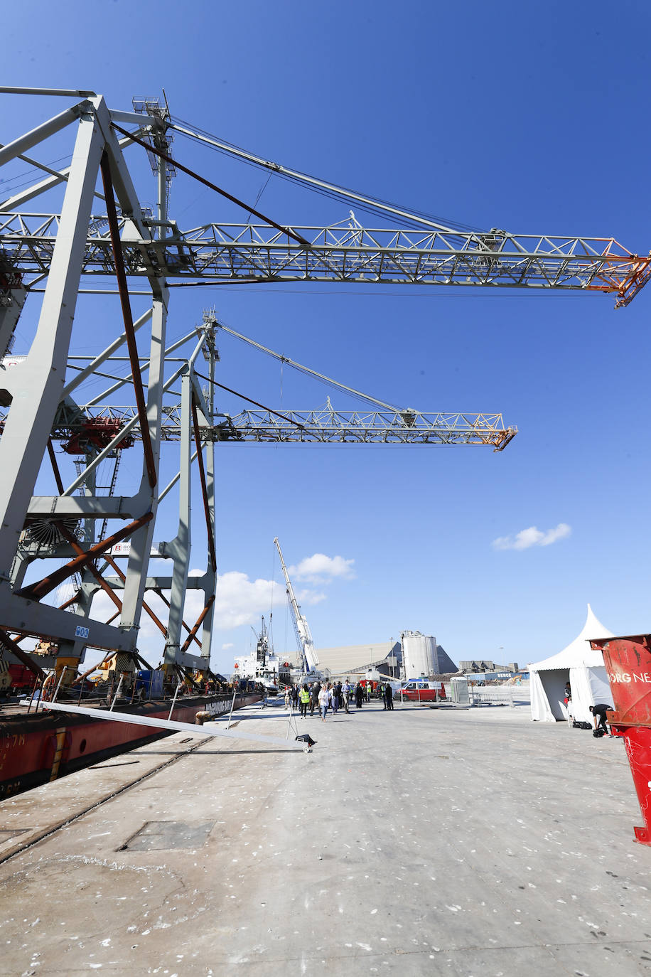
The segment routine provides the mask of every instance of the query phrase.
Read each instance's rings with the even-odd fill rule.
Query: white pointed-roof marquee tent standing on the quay
[[[531,718],[554,723],[567,719],[565,683],[572,688],[572,715],[575,719],[591,722],[589,706],[596,702],[611,704],[612,696],[601,652],[590,648],[590,638],[612,638],[592,614],[588,605],[588,617],[581,634],[557,655],[529,665],[531,675]]]

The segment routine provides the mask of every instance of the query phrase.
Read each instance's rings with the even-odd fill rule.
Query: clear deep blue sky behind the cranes
[[[614,24],[601,0],[186,10],[68,0],[57,11],[27,0],[3,21],[6,84],[88,87],[120,108],[165,88],[173,114],[231,143],[406,207],[480,229],[613,234],[631,251],[651,248],[646,4],[620,3]],[[59,108],[3,97],[0,141]],[[174,151],[251,203],[263,189],[260,171],[180,136]],[[153,200],[145,167],[142,181]],[[259,206],[281,223],[347,216],[273,177]],[[171,216],[182,228],[243,219],[185,179]],[[215,306],[234,329],[380,399],[502,411],[519,428],[499,454],[220,446],[218,667],[248,651],[249,621],[268,613],[272,590],[276,648],[292,647],[269,583],[280,579],[274,535],[288,564],[352,561],[297,579],[317,648],[412,628],[454,659],[524,662],[572,640],[589,601],[616,633],[649,629],[651,291],[618,312],[598,293],[325,284],[175,289],[173,300],[174,336]],[[107,329],[117,307],[91,312],[88,302],[77,319]],[[21,329],[27,342],[28,312]],[[85,342],[101,345],[90,333]],[[336,407],[357,405],[287,369],[281,387],[276,362],[230,337],[221,351],[222,382],[269,406],[316,407],[328,393]],[[526,548],[492,545],[561,524],[569,531],[547,545],[536,533],[521,537],[538,538]],[[196,566],[201,542],[199,531]]]

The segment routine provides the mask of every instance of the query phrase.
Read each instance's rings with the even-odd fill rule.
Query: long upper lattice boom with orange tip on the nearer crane
[[[83,274],[114,273],[104,218],[94,218]],[[60,217],[1,214],[0,244],[21,274],[47,273]],[[145,224],[147,222],[145,221]],[[651,276],[614,237],[371,230],[356,221],[326,228],[294,227],[306,245],[265,225],[207,224],[187,232],[171,223],[162,240],[129,239],[122,250],[129,276],[170,279],[331,281],[412,285],[492,285],[613,292],[626,306]]]

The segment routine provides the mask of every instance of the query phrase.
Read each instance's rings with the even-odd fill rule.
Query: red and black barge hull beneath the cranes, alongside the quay
[[[261,698],[258,694],[238,696],[234,708],[239,709]],[[230,710],[231,702],[232,696],[187,697],[175,703],[171,716],[171,701],[165,700],[130,705],[119,711],[193,724],[197,712],[223,715]],[[170,735],[154,727],[147,733],[146,727],[136,723],[107,723],[61,712],[39,710],[29,714],[2,715],[0,800]]]

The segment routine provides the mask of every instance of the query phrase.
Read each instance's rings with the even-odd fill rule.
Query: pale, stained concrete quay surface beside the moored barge
[[[651,975],[619,740],[508,706],[298,727],[308,755],[188,731],[0,803],[0,974]]]

